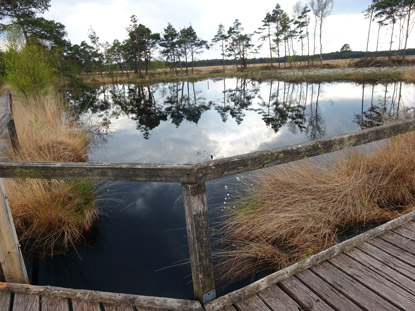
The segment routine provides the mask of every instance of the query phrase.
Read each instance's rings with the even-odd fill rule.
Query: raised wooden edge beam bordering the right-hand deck
[[[369,239],[380,236],[383,233],[399,227],[405,223],[415,220],[415,211],[393,219],[381,226],[359,234],[351,239],[348,239],[342,243],[336,244],[320,253],[317,253],[305,260],[299,261],[289,267],[274,272],[244,288],[233,291],[222,297],[219,297],[212,302],[205,305],[206,311],[219,311],[226,307],[231,306],[234,303],[238,303],[249,298],[258,292],[275,285],[278,282],[284,281],[296,273],[306,270],[314,265],[317,265],[327,259],[330,259],[342,252],[346,252],[354,248]]]

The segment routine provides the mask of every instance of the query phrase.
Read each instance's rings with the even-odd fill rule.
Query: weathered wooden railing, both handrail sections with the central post
[[[400,121],[305,144],[258,151],[198,164],[0,162],[0,177],[84,178],[92,180],[181,183],[194,294],[196,299],[205,304],[216,296],[205,188],[206,181],[339,151],[414,130],[415,121]],[[3,261],[1,263],[2,265],[4,264]]]

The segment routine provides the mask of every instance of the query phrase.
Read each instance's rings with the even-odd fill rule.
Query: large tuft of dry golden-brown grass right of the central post
[[[415,133],[372,154],[306,160],[260,172],[223,228],[222,280],[293,264],[359,227],[393,219],[415,205]]]

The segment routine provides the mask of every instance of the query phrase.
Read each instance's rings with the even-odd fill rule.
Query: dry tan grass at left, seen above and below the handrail
[[[55,95],[14,97],[20,149],[13,161],[87,160],[89,138]],[[6,192],[23,251],[53,256],[83,240],[97,217],[94,185],[85,181],[8,179]]]

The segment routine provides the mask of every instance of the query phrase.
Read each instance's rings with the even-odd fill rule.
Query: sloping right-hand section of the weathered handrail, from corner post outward
[[[316,140],[305,144],[209,161],[198,165],[198,177],[199,181],[217,179],[339,151],[413,130],[415,130],[415,121],[400,121],[362,130],[357,133]]]

